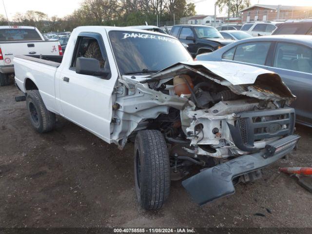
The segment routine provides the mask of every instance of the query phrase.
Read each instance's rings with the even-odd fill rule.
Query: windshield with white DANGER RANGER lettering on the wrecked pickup
[[[109,39],[119,72],[159,71],[177,62],[192,60],[177,39],[149,33],[111,31]]]

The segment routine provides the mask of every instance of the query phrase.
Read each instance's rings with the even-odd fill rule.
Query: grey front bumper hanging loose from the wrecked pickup
[[[234,177],[256,171],[277,161],[292,152],[299,138],[297,135],[290,135],[276,140],[258,153],[240,156],[206,169],[182,181],[182,185],[199,205],[234,194],[232,181]]]

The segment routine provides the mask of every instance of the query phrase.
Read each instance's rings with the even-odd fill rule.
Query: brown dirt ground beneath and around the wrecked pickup
[[[20,95],[0,87],[0,227],[312,227],[312,194],[278,173],[312,166],[311,128],[298,125],[289,160],[234,195],[199,207],[176,181],[163,208],[146,212],[136,201],[132,143],[119,151],[62,117],[38,134]]]

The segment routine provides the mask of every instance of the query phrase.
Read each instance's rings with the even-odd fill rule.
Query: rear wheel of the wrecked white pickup
[[[55,114],[48,111],[38,90],[27,92],[26,105],[30,122],[39,133],[51,131],[55,125]]]

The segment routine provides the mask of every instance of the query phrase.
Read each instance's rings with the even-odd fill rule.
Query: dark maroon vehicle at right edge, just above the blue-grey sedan
[[[312,35],[312,19],[286,21],[272,35]]]

